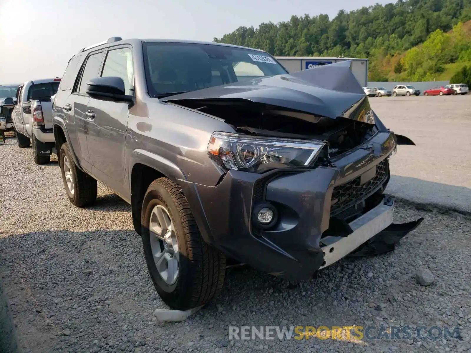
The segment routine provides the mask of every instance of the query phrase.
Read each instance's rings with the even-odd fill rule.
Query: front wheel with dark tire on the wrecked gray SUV
[[[157,217],[159,212],[162,212],[160,218]],[[167,224],[171,222],[174,232],[162,230],[166,228],[159,226],[158,219],[162,217]],[[226,257],[201,237],[179,185],[164,177],[149,185],[142,204],[141,225],[147,268],[155,290],[165,304],[172,309],[188,310],[207,304],[219,294],[224,284]],[[166,233],[167,245],[163,236],[159,239],[155,235],[157,233]],[[177,244],[177,249],[172,244]],[[165,257],[165,260],[160,257],[160,272],[154,260],[155,253]],[[175,275],[171,275],[169,265],[177,268]]]

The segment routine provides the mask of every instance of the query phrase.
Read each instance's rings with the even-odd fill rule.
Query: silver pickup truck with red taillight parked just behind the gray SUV
[[[55,150],[52,130],[51,96],[57,93],[60,78],[26,81],[16,93],[12,114],[19,147],[32,143],[34,161],[49,163]]]

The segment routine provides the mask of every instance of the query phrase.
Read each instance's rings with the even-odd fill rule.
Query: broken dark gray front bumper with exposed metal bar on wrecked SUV
[[[216,186],[182,188],[206,242],[260,271],[307,280],[391,224],[393,202],[383,200],[382,192],[395,147],[394,134],[381,131],[332,159],[331,167],[261,175],[230,170]],[[381,178],[375,174],[380,170]],[[364,197],[350,202],[355,190]],[[268,230],[252,219],[263,202],[278,212]],[[340,234],[339,225],[350,234],[333,236]]]

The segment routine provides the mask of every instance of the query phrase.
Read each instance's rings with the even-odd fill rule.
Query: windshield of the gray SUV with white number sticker
[[[266,53],[222,45],[149,42],[144,57],[151,96],[287,73]]]

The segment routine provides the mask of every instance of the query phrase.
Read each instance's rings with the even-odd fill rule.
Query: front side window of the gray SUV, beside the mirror
[[[103,65],[102,77],[121,77],[124,81],[126,95],[131,95],[134,89],[134,74],[132,69],[132,51],[130,48],[109,50]]]

